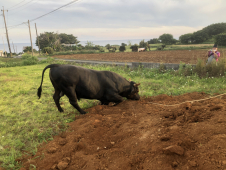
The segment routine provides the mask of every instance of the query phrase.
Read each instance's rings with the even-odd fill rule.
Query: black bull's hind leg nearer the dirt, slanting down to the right
[[[81,114],[86,114],[84,110],[82,110],[78,105],[77,95],[75,93],[75,89],[72,86],[65,87],[61,85],[61,89],[63,93],[68,97],[70,104],[76,108]]]

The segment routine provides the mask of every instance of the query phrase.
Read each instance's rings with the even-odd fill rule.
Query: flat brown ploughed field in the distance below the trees
[[[99,53],[99,54],[72,54],[56,55],[53,57],[78,60],[98,60],[115,62],[151,62],[151,63],[186,63],[196,64],[198,58],[206,60],[207,50],[172,50],[172,51],[148,51],[148,52],[124,52],[124,53]],[[221,51],[221,57],[223,51]]]

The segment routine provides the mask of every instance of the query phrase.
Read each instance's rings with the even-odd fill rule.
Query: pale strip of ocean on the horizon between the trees
[[[132,44],[139,44],[139,42],[143,40],[143,39],[131,39],[131,43]],[[145,41],[148,41],[149,39],[145,39]],[[82,45],[86,45],[86,42],[87,41],[80,41],[79,44],[82,44]],[[121,43],[125,43],[127,44],[128,43],[128,40],[95,40],[95,41],[92,41],[91,42],[94,44],[94,45],[101,45],[101,46],[105,46],[106,44],[110,44],[110,45],[121,45]],[[22,52],[23,51],[23,47],[26,47],[26,46],[31,46],[31,43],[14,43],[14,48],[13,48],[13,45],[10,44],[10,47],[11,47],[11,51],[14,52]],[[38,50],[38,47],[33,44],[33,48]],[[4,45],[3,44],[0,44],[0,50],[6,50],[7,52],[9,52],[9,48],[8,48],[8,44],[5,43]]]

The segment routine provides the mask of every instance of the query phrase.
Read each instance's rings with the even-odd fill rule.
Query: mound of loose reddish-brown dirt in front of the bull
[[[205,97],[160,95],[87,109],[36,155],[21,159],[21,170],[226,169],[225,97],[174,107],[150,104]]]

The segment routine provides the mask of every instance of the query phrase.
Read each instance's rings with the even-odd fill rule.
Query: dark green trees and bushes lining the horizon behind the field
[[[79,44],[77,37],[72,34],[65,33],[54,33],[54,32],[44,32],[38,36],[39,45],[42,53],[51,54],[53,52],[59,51],[75,51],[75,50],[99,50],[104,52],[104,48],[99,45],[94,45],[92,42],[87,41],[86,45],[83,46]],[[36,45],[38,46],[38,39],[36,39]],[[136,49],[138,47],[149,48],[149,44],[163,44],[163,45],[172,45],[172,44],[201,44],[210,40],[220,46],[226,46],[226,23],[217,23],[209,25],[202,30],[196,31],[194,33],[188,33],[181,35],[179,40],[176,40],[172,34],[162,34],[158,38],[150,39],[145,42],[142,40],[139,44],[132,45],[129,42],[131,49]],[[111,51],[115,52],[116,50],[125,51],[127,45],[122,43],[119,48],[116,46],[111,46],[107,44],[105,47]],[[159,50],[164,47],[157,47]],[[31,47],[24,49],[24,52],[31,51]]]

